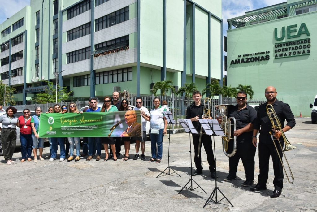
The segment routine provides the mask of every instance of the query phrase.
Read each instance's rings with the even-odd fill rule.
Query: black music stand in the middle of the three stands
[[[179,123],[182,125],[182,127],[184,128],[185,132],[189,133],[189,146],[190,146],[190,153],[191,153],[191,134],[198,134],[197,130],[195,129],[194,125],[191,123],[191,119],[178,119]],[[192,163],[191,163],[192,164]],[[197,188],[201,188],[201,190],[203,190],[206,194],[207,192],[200,187],[194,180],[193,180],[193,170],[192,170],[192,165],[191,165],[191,178],[189,178],[189,181],[186,183],[186,185],[182,188],[182,190],[184,190],[184,188],[189,189],[189,190],[195,190]],[[193,182],[196,183],[197,187],[193,188]],[[189,187],[186,187],[188,183],[191,183],[191,185]],[[182,192],[182,190],[180,190],[178,192],[178,194],[180,194]]]

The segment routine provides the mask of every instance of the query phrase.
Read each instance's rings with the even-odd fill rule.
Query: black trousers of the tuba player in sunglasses
[[[252,144],[252,142],[237,143],[236,154],[229,157],[229,175],[232,177],[236,176],[239,160],[241,158],[246,180],[253,180],[255,154],[256,147]]]

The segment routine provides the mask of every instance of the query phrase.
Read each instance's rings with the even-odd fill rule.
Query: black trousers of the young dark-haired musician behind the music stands
[[[199,144],[199,135],[192,135],[193,136],[193,144],[194,144],[194,161],[195,161],[195,166],[196,166],[196,171],[202,171],[203,167],[201,165],[201,154],[199,153],[199,157],[197,157],[198,153],[198,144]],[[209,164],[209,170],[210,172],[215,172],[215,157],[214,153],[212,151],[212,141],[211,141],[211,136],[202,134],[202,145],[204,145],[204,149],[207,153],[207,161]],[[201,150],[201,146],[199,151]]]

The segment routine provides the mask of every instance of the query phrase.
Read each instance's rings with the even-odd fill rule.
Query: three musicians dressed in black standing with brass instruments
[[[236,130],[232,132],[233,136],[236,136],[236,153],[229,157],[229,175],[223,179],[223,181],[232,181],[237,178],[236,172],[239,160],[241,158],[246,180],[242,183],[242,186],[253,185],[254,180],[254,156],[257,147],[257,134],[261,128],[259,136],[259,168],[260,174],[258,176],[258,183],[256,186],[251,187],[251,191],[266,190],[266,183],[268,180],[268,164],[269,158],[272,157],[273,169],[274,169],[274,191],[270,195],[271,198],[280,196],[283,188],[283,166],[279,159],[282,157],[282,149],[284,140],[281,137],[281,131],[286,132],[295,126],[294,115],[288,104],[283,103],[276,99],[277,92],[275,87],[267,87],[265,89],[265,98],[267,102],[260,105],[258,111],[247,104],[247,93],[239,91],[236,95],[237,104],[230,108],[228,111],[228,118],[234,117],[236,119]],[[191,119],[197,132],[200,130],[199,119],[204,119],[204,105],[201,101],[201,94],[199,91],[195,91],[192,94],[194,103],[186,110],[186,119]],[[282,129],[272,129],[272,123],[267,114],[266,106],[270,104],[273,106],[278,119],[280,120]],[[211,118],[212,119],[212,118]],[[222,117],[217,117],[219,123],[222,122]],[[285,120],[287,124],[284,126]],[[281,145],[276,145],[278,151],[272,140],[269,132],[273,132],[273,136],[277,139]],[[203,173],[203,167],[201,165],[201,155],[197,157],[198,151],[201,146],[198,145],[199,134],[192,134],[194,152],[195,152],[195,165],[196,172],[193,174],[199,175]],[[232,138],[231,138],[232,139]],[[207,161],[209,163],[209,170],[211,177],[215,178],[215,160],[211,145],[211,136],[206,134],[202,135],[202,144],[204,145],[207,153]]]

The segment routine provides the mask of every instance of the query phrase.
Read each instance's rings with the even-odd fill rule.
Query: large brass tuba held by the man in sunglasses
[[[236,154],[236,150],[237,150],[237,141],[236,141],[236,136],[233,136],[233,150],[231,153],[228,153],[228,143],[230,141],[230,139],[232,139],[232,135],[231,135],[231,127],[233,125],[233,131],[236,131],[236,119],[234,117],[228,117],[228,109],[230,107],[234,107],[233,105],[216,105],[215,106],[219,112],[220,112],[220,116],[222,116],[222,123],[221,123],[221,127],[224,131],[225,136],[222,137],[222,147],[223,147],[223,153],[227,156],[227,157],[231,157],[234,156]]]

